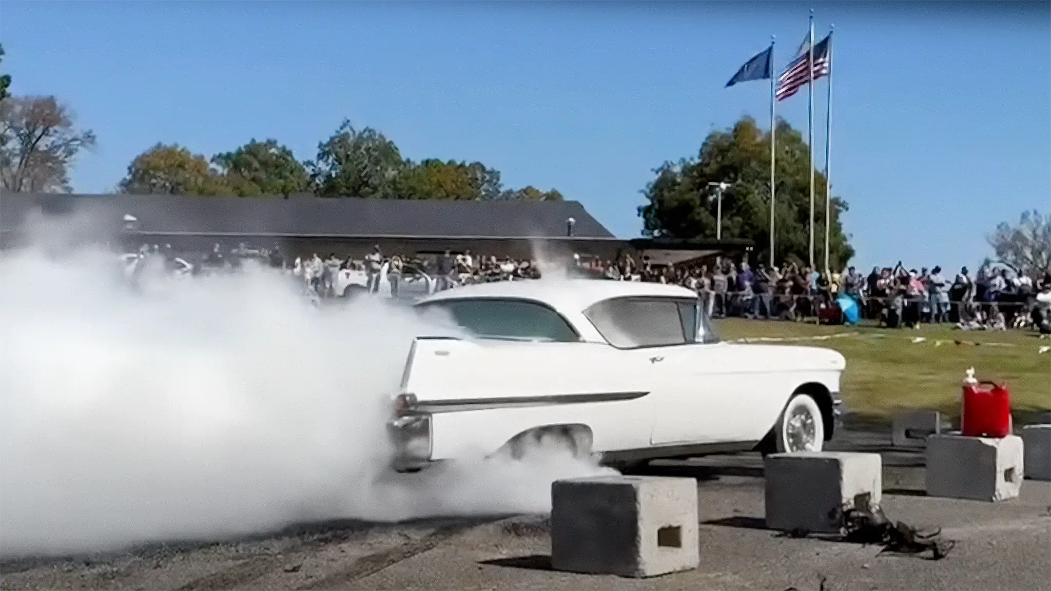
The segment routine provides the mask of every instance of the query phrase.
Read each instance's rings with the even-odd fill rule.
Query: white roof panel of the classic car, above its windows
[[[559,311],[582,311],[612,298],[697,298],[697,293],[678,285],[614,281],[601,279],[514,280],[465,285],[438,291],[416,305],[448,300],[514,298],[542,302]]]

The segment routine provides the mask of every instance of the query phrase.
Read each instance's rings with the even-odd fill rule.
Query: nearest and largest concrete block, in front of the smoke
[[[700,564],[694,478],[568,478],[551,494],[555,570],[644,577]]]

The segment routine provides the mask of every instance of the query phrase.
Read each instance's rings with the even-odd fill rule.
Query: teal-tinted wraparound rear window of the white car
[[[444,300],[424,304],[419,311],[445,311],[453,322],[482,339],[573,343],[576,330],[555,310],[526,300]]]

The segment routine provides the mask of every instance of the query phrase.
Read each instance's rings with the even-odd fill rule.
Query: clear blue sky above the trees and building
[[[976,264],[997,222],[1051,204],[1051,15],[840,4],[2,0],[0,72],[98,134],[81,192],[158,141],[210,156],[273,137],[312,158],[347,117],[406,157],[556,187],[633,237],[653,168],[742,115],[766,124],[766,82],[723,85],[770,35],[782,67],[813,7],[818,34],[837,30],[832,183],[853,263]],[[824,81],[815,94],[820,164]],[[805,134],[805,91],[778,109]]]

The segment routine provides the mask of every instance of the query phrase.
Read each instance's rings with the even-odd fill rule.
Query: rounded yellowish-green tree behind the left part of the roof
[[[136,157],[120,183],[122,192],[234,195],[219,170],[179,144],[157,144]]]

